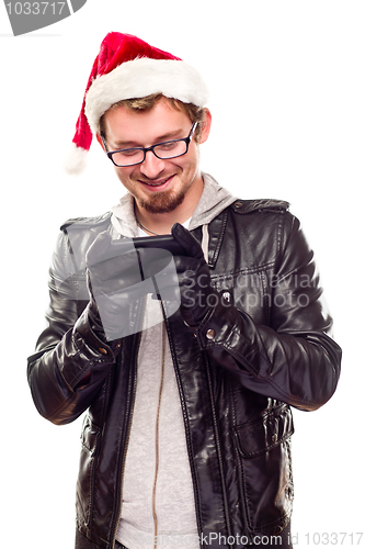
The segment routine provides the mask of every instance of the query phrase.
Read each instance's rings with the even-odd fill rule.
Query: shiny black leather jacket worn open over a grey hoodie
[[[62,227],[50,269],[49,327],[28,359],[44,417],[60,425],[88,411],[77,486],[83,544],[77,547],[90,549],[114,547],[140,339],[137,333],[106,345],[88,320],[82,258],[110,219]],[[221,300],[196,333],[179,311],[167,332],[202,546],[226,547],[214,537],[219,533],[235,537],[238,549],[242,536],[275,535],[288,523],[290,406],[312,411],[331,397],[341,349],[328,335],[312,253],[287,203],[236,201],[208,231]],[[193,234],[202,239],[201,227]],[[132,322],[140,314],[136,305]]]

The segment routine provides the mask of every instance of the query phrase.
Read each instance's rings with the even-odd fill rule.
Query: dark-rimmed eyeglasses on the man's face
[[[102,135],[103,145],[109,158],[118,168],[126,168],[127,166],[136,166],[142,164],[146,159],[146,153],[151,150],[153,155],[160,160],[168,160],[169,158],[178,158],[179,156],[186,155],[190,142],[196,130],[197,122],[194,122],[190,134],[184,139],[166,141],[157,143],[151,147],[133,147],[122,148],[118,150],[107,150],[105,136]]]

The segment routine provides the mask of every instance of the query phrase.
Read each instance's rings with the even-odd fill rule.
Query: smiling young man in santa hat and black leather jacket
[[[199,171],[205,103],[182,60],[103,41],[73,142],[128,192],[61,227],[28,360],[44,417],[85,412],[77,549],[292,547],[290,406],[331,397],[341,350],[288,204]],[[170,233],[173,261],[132,245]]]

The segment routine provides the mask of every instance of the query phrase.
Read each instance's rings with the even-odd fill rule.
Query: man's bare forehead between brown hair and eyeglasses
[[[148,111],[117,107],[104,114],[105,136],[114,144],[148,146],[161,138],[169,138],[170,135],[171,138],[185,137],[190,126],[187,114],[173,109],[163,100]]]

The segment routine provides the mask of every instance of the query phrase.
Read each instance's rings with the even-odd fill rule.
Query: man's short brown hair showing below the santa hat
[[[117,109],[118,107],[125,107],[126,109],[135,112],[150,111],[162,98],[168,101],[170,105],[176,111],[183,111],[185,114],[187,114],[191,122],[197,122],[197,126],[194,133],[194,139],[196,141],[196,143],[198,143],[205,122],[205,110],[203,107],[197,107],[193,103],[183,103],[179,99],[166,98],[162,93],[153,93],[145,98],[123,99],[122,101],[112,104],[109,110]],[[98,133],[99,135],[105,135],[104,115],[101,116],[99,121]]]

